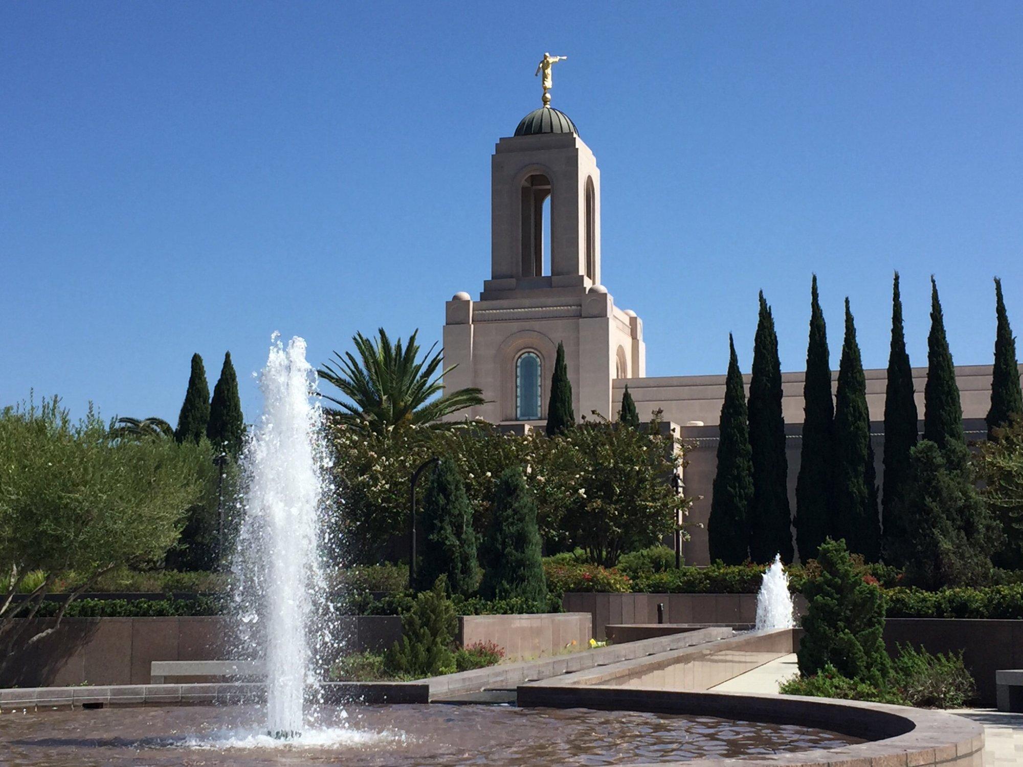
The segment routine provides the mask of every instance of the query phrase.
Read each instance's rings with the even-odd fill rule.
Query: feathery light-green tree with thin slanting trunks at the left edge
[[[163,561],[186,509],[213,469],[209,445],[125,440],[90,412],[73,422],[56,398],[0,411],[0,637],[24,638],[57,581],[71,581],[68,605],[105,573]],[[45,574],[14,602],[33,571]],[[0,651],[0,658],[4,652]]]

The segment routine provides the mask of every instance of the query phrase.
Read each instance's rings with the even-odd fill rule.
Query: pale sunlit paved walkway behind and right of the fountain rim
[[[795,653],[740,674],[713,689],[721,692],[777,692],[779,685],[798,673]],[[984,725],[984,767],[1023,767],[1023,714],[993,709],[959,709],[948,712]]]

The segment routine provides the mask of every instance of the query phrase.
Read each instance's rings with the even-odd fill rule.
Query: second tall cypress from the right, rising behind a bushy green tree
[[[944,450],[949,443],[966,444],[963,406],[955,384],[955,365],[945,337],[945,321],[938,300],[938,283],[931,277],[931,333],[927,337],[927,385],[924,387],[924,439]]]

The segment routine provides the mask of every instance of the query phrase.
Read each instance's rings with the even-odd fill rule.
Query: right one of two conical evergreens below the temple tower
[[[509,466],[497,480],[494,512],[480,546],[483,581],[480,593],[487,599],[522,597],[542,601],[547,585],[536,528],[536,501],[522,470]]]

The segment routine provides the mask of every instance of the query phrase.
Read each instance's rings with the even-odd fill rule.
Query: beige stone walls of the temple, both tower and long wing
[[[468,292],[455,294],[447,302],[444,325],[445,365],[456,366],[445,376],[445,387],[479,387],[488,402],[452,419],[468,415],[542,426],[554,353],[563,343],[576,417],[591,411],[614,417],[627,384],[640,419],[659,409],[673,430],[680,430],[690,447],[684,492],[695,498],[684,555],[691,565],[707,565],[706,523],[725,376],[646,377],[642,322],[635,312],[615,306],[601,284],[601,174],[593,153],[572,129],[502,138],[496,145],[491,159],[491,279],[484,282],[479,301]],[[548,198],[550,220],[545,222]],[[548,225],[550,252],[545,253]],[[520,361],[527,357],[535,362],[524,368]],[[833,375],[837,382],[838,373]],[[880,483],[885,370],[866,370],[865,375]],[[914,375],[923,417],[927,370],[917,368]],[[963,366],[957,375],[967,437],[982,439],[991,367]],[[748,385],[748,375],[746,380]],[[803,373],[785,373],[783,388],[795,512]]]

